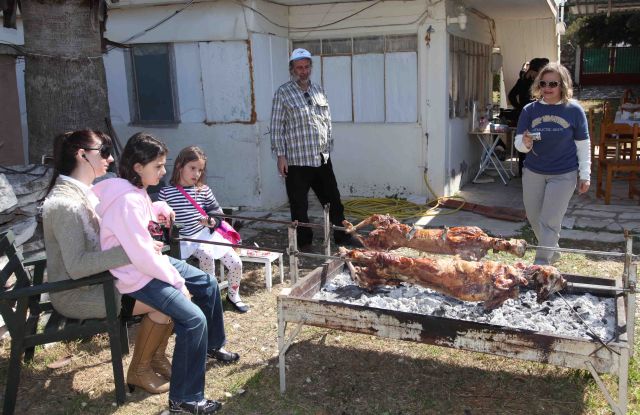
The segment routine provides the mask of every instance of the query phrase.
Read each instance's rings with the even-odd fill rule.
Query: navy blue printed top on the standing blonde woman
[[[533,142],[524,166],[539,174],[564,174],[578,170],[574,140],[588,140],[587,116],[577,101],[545,105],[539,101],[526,105],[518,119],[516,134],[539,132],[542,140]]]

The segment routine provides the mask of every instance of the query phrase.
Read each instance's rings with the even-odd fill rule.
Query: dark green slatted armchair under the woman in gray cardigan
[[[8,263],[0,270],[0,287],[14,275],[15,285],[0,291],[0,314],[11,335],[11,355],[7,370],[3,413],[14,413],[22,355],[25,362],[33,358],[35,346],[64,340],[76,340],[91,337],[98,333],[109,334],[111,346],[111,364],[116,389],[116,401],[125,401],[124,371],[122,369],[122,351],[128,352],[123,326],[116,309],[113,277],[102,273],[77,280],[43,282],[46,259],[24,261],[22,254],[16,251],[13,232],[0,233],[0,256],[6,255]],[[27,266],[33,266],[31,278]],[[67,319],[58,314],[51,302],[43,300],[42,294],[60,292],[78,287],[102,284],[107,309],[107,318],[91,320]],[[46,322],[45,322],[46,321]],[[44,328],[41,326],[44,325]],[[125,344],[123,344],[123,341]],[[26,398],[26,397],[25,397]],[[32,396],[30,399],[35,399]]]

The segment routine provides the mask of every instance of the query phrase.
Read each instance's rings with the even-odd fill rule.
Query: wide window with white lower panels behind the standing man
[[[335,122],[410,123],[418,120],[416,34],[293,41],[314,60]]]

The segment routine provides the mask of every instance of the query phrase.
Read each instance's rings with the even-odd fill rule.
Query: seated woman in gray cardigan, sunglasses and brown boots
[[[48,280],[78,279],[130,264],[122,247],[100,249],[100,218],[94,209],[98,199],[91,191],[93,181],[106,174],[113,162],[111,138],[91,130],[65,133],[55,138],[53,156],[54,175],[42,205]],[[51,302],[65,317],[106,317],[101,285],[52,293]],[[118,295],[118,307],[120,302]],[[127,371],[129,388],[139,386],[151,393],[168,391],[171,363],[165,351],[173,323],[128,296],[122,299],[121,310],[123,315],[145,314]]]

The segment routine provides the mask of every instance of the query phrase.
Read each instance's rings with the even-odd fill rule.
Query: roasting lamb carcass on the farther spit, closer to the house
[[[476,226],[456,226],[448,229],[412,229],[391,215],[372,215],[357,225],[344,221],[347,233],[356,237],[362,245],[373,250],[413,248],[434,254],[459,255],[463,259],[480,259],[490,249],[524,256],[527,243],[522,239],[492,238]],[[376,229],[366,237],[356,231],[373,225]]]

